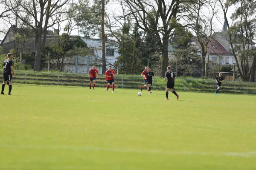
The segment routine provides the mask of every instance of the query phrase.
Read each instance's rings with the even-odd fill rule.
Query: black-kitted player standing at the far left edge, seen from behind
[[[6,83],[9,83],[9,95],[11,95],[11,91],[12,91],[12,74],[13,77],[15,77],[15,73],[13,70],[13,66],[12,66],[12,54],[9,53],[7,54],[8,59],[6,59],[3,62],[3,85],[2,85],[2,91],[1,94],[4,94],[4,87],[6,85]]]

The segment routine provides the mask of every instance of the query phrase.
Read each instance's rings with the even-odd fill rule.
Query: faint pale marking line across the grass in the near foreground
[[[160,153],[166,155],[195,155],[195,156],[233,156],[233,157],[256,157],[256,151],[253,152],[189,152],[189,151],[168,151],[168,150],[134,150],[120,148],[100,148],[100,147],[79,147],[69,145],[0,145],[1,148],[16,149],[66,149],[66,150],[95,150],[119,153]]]

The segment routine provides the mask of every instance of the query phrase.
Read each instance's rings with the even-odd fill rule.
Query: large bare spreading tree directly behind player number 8
[[[186,15],[186,7],[198,0],[125,0],[130,8],[133,20],[140,29],[156,35],[158,46],[162,52],[162,71],[164,76],[168,66],[168,45],[177,21]],[[190,23],[186,26],[191,25]]]

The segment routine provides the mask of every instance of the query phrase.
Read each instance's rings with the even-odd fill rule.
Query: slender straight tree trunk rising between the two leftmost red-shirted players
[[[102,74],[106,72],[106,49],[105,49],[105,0],[102,0]]]

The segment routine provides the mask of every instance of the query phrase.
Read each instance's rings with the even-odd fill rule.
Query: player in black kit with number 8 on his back
[[[176,79],[175,74],[171,71],[171,67],[167,67],[167,71],[164,77],[164,83],[166,84],[167,80],[167,85],[166,85],[166,100],[168,99],[168,94],[169,94],[169,89],[170,91],[175,94],[177,97],[177,100],[179,99],[180,95],[178,95],[173,89],[174,89],[174,80]]]

